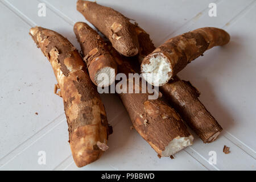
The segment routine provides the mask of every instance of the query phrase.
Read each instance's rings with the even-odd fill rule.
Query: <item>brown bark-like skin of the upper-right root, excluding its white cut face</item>
[[[207,49],[214,46],[223,46],[229,40],[229,34],[220,28],[199,28],[167,40],[150,55],[146,56],[142,61],[142,65],[149,64],[150,57],[162,53],[170,63],[172,71],[169,74],[174,77],[188,63],[202,55]]]

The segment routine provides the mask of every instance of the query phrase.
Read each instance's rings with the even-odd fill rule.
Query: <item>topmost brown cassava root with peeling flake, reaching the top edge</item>
[[[90,1],[77,1],[77,10],[110,40],[119,53],[125,56],[138,54],[138,38],[129,18]]]

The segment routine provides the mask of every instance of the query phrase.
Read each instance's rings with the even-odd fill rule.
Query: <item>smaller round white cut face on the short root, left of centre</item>
[[[94,80],[98,86],[109,86],[115,81],[115,69],[104,67],[98,70]]]

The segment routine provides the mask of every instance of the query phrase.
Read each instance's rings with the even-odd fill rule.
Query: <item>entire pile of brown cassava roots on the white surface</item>
[[[137,23],[131,23],[129,18],[109,7],[79,0],[77,10],[105,35],[108,42],[83,22],[73,27],[82,57],[55,31],[34,27],[30,35],[55,73],[55,93],[60,89],[57,94],[63,98],[69,143],[78,167],[94,162],[109,148],[107,142],[112,127],[96,86],[113,84],[117,73],[127,76],[139,73],[139,65],[144,79],[159,86],[159,97],[149,100],[148,92],[120,93],[119,97],[135,130],[158,156],[172,156],[193,144],[193,136],[185,123],[204,143],[216,140],[221,126],[199,101],[199,91],[176,74],[207,49],[228,43],[227,32],[213,27],[199,28],[175,36],[156,48]],[[101,73],[108,79],[99,79]],[[127,78],[126,81],[131,80]],[[132,84],[133,88],[142,89],[141,82]]]

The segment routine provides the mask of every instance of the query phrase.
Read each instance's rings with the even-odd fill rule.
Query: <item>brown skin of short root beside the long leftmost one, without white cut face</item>
[[[84,61],[87,64],[90,79],[98,86],[96,81],[96,73],[102,68],[110,67],[114,69],[114,74],[117,73],[117,64],[110,55],[104,40],[98,33],[93,30],[88,24],[77,22],[74,26],[74,32],[77,40],[80,42],[82,52],[84,53]],[[114,75],[114,77],[115,77]],[[113,80],[114,81],[114,80]],[[109,85],[111,85],[109,83]],[[109,86],[105,85],[105,86]]]

